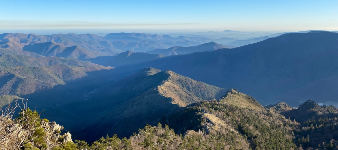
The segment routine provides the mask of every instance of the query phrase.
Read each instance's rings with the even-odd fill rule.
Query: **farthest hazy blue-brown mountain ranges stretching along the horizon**
[[[227,33],[232,34],[232,33]],[[236,34],[247,34],[246,32]],[[52,34],[37,35],[23,33],[0,34],[0,54],[15,54],[38,57],[58,56],[65,58],[90,59],[100,56],[117,55],[123,51],[146,52],[175,47],[192,47],[217,42],[226,48],[235,48],[266,39],[238,40],[228,37],[207,38],[201,36],[157,35],[146,33],[110,33],[106,36],[95,34]],[[186,54],[186,52],[184,53]],[[166,54],[167,55],[167,54]]]

